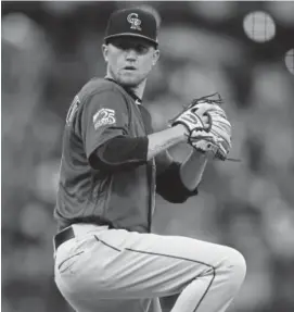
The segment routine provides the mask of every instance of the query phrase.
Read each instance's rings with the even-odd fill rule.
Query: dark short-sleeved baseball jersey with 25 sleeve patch
[[[68,110],[63,137],[54,210],[61,228],[75,222],[105,222],[118,228],[150,230],[155,201],[154,160],[115,173],[94,170],[88,161],[111,138],[146,135],[138,104],[117,84],[94,78],[78,92]]]

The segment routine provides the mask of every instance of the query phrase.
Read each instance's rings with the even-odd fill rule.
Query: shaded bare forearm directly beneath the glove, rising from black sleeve
[[[183,185],[189,189],[193,190],[200,184],[204,170],[207,164],[207,158],[193,150],[188,159],[181,164],[180,177]]]

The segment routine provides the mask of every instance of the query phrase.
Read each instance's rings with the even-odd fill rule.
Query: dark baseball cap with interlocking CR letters
[[[157,47],[157,26],[154,15],[142,9],[123,9],[110,16],[104,41],[117,37],[139,37]]]

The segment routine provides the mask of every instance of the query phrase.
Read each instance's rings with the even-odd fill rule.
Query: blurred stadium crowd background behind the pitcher
[[[54,286],[52,255],[65,114],[79,88],[105,73],[110,13],[138,4],[162,17],[162,58],[144,100],[154,128],[191,98],[219,91],[231,157],[242,159],[212,163],[200,196],[182,205],[158,198],[154,230],[245,255],[230,311],[294,311],[294,2],[282,1],[1,2],[2,311],[72,311]],[[163,299],[164,311],[175,299]]]

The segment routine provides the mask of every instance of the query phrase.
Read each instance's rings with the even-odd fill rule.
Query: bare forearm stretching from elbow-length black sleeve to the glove
[[[186,133],[187,129],[184,126],[177,125],[175,127],[149,135],[148,160],[179,142],[186,141]]]

